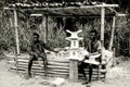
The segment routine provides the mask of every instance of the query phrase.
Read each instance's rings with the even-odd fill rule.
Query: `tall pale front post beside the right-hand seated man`
[[[105,23],[105,8],[101,8],[101,53],[102,53],[102,59],[103,59],[103,47],[104,47],[104,23]],[[100,79],[100,67],[98,71],[98,79]]]

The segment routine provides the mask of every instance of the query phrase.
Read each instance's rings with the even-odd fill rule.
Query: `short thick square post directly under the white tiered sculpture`
[[[78,83],[78,60],[69,59],[69,80]]]

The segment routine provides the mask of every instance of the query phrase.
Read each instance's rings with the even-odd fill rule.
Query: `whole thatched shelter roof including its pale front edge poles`
[[[115,7],[115,4],[105,4],[105,15],[113,16],[116,11],[108,5]],[[107,8],[108,7],[108,8]],[[17,9],[21,11],[29,11],[30,13],[41,13],[50,16],[100,16],[102,4],[95,5],[78,5],[78,7],[31,7],[30,4],[17,5],[13,4],[8,9]]]

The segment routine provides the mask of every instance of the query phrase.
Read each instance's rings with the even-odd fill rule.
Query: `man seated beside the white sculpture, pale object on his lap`
[[[98,61],[99,63],[101,62],[101,41],[98,40],[98,32],[96,30],[91,30],[90,32],[90,40],[88,41],[88,45],[84,41],[84,48],[89,51],[89,54],[87,54],[79,65],[79,73],[81,73],[84,78],[86,78],[86,84],[91,83],[92,78],[92,73],[93,73],[93,67],[98,67],[95,62]],[[94,61],[91,62],[86,62],[86,60],[90,59],[95,59]],[[89,80],[87,79],[84,69],[89,67]]]

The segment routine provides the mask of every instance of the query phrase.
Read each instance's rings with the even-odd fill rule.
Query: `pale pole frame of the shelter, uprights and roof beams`
[[[105,8],[117,8],[118,4],[96,4],[96,5],[88,5],[88,7],[80,7],[78,8],[79,10],[80,9],[91,9],[91,8],[100,8],[100,11],[101,11],[101,44],[102,44],[102,57],[103,57],[103,46],[104,46],[104,21],[105,21]],[[15,21],[15,40],[16,40],[16,55],[17,54],[21,54],[20,52],[20,41],[18,41],[18,32],[17,32],[17,10],[15,7],[14,8],[4,8],[5,10],[14,10],[14,21]],[[63,9],[63,8],[62,8]],[[64,10],[68,10],[68,9],[75,9],[75,7],[69,7],[69,8],[64,8]],[[23,9],[23,10],[28,10],[28,9]],[[47,10],[47,11],[50,11],[50,10],[61,10],[61,8],[40,8],[40,9],[34,9],[35,11],[36,10]],[[115,12],[116,13],[116,12]],[[54,14],[55,15],[55,14]],[[47,16],[47,22],[46,22],[46,38],[48,38],[48,14],[46,14]],[[57,15],[58,16],[58,15]],[[73,16],[73,15],[61,15],[61,16]],[[76,16],[82,16],[82,15],[76,15]],[[88,15],[83,15],[83,16],[88,16]],[[115,16],[115,15],[114,15]],[[115,21],[115,18],[114,18]],[[113,23],[113,29],[114,29],[114,26],[115,26],[115,22]],[[112,36],[113,38],[113,36]],[[110,40],[113,41],[113,40]],[[112,46],[113,42],[110,42],[110,46]],[[75,67],[77,70],[77,66]],[[100,71],[100,70],[99,70]],[[73,72],[76,72],[76,71],[73,71]],[[75,76],[78,76],[78,75],[75,75],[74,73],[72,73],[72,75],[74,75],[73,77]],[[74,82],[77,82],[78,80],[78,77],[76,77],[77,79],[74,79]],[[100,76],[98,76],[98,79],[100,79]]]

